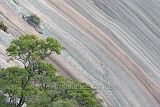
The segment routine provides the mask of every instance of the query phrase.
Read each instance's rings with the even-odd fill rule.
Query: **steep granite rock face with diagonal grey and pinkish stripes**
[[[67,50],[47,61],[98,89],[105,107],[158,107],[159,10],[159,0],[1,0],[0,21],[9,27],[0,32],[1,65],[10,66],[4,48],[11,39],[54,37]],[[43,35],[23,20],[30,14],[40,17]]]

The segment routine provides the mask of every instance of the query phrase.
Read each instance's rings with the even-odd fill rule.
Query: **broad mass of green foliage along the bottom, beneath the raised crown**
[[[22,99],[20,105],[26,102],[31,107],[49,105],[49,107],[56,107],[55,105],[72,107],[69,106],[71,102],[68,102],[72,100],[75,105],[83,107],[101,107],[99,99],[96,99],[95,89],[77,80],[57,76],[54,68],[47,66],[46,63],[44,65],[41,72],[34,71],[32,76],[29,71],[18,67],[1,70],[0,90],[9,94],[12,101],[19,98]],[[16,105],[16,102],[14,104]]]

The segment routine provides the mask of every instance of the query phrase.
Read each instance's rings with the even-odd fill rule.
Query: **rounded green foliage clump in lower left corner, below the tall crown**
[[[29,72],[23,68],[11,67],[0,71],[0,90],[10,96],[11,101],[17,105],[16,99],[22,99],[21,104],[27,97],[37,93],[37,87],[28,81]],[[20,105],[21,105],[20,104]]]

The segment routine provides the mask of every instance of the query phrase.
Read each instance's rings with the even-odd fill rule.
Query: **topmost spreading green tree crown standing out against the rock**
[[[37,62],[44,60],[53,52],[60,54],[64,49],[54,38],[48,37],[46,40],[43,40],[38,39],[35,35],[23,35],[13,40],[6,51],[10,59],[17,59],[25,67],[28,66],[30,70],[34,70]]]

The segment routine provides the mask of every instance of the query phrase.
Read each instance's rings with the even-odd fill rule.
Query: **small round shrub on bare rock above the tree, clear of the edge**
[[[41,20],[37,15],[32,14],[28,17],[27,22],[33,27],[38,27],[40,25]]]

